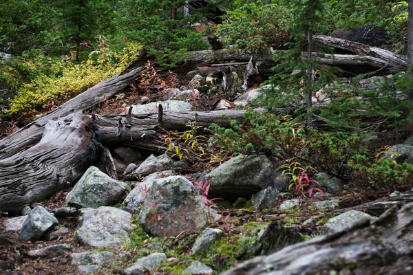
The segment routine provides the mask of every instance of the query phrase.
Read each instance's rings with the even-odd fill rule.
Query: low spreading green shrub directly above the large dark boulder
[[[233,153],[269,153],[279,159],[297,158],[303,166],[350,178],[348,163],[357,155],[367,155],[363,135],[322,133],[272,113],[246,111],[244,123],[231,122],[231,129],[211,125],[215,138]]]

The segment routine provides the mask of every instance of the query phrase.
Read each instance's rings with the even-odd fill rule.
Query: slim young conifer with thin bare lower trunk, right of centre
[[[325,0],[293,0],[283,1],[284,5],[294,13],[293,21],[289,29],[294,40],[288,46],[288,54],[278,52],[275,55],[279,64],[275,67],[275,76],[272,83],[279,86],[282,91],[288,91],[288,101],[294,99],[306,98],[306,115],[308,126],[313,122],[312,94],[315,89],[315,72],[320,74],[321,67],[313,60],[313,34],[322,33],[326,29],[326,17],[328,16],[328,5]],[[306,52],[306,58],[302,54]],[[292,74],[294,72],[294,74]],[[334,77],[331,72],[326,72],[319,76],[318,82],[332,81]],[[271,96],[277,97],[278,91],[270,91],[267,94],[267,100],[270,105],[275,105],[282,100],[282,97],[271,99]],[[284,102],[285,103],[285,102]]]

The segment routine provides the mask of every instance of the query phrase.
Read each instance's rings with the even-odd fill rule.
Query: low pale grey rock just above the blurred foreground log
[[[360,219],[373,219],[372,216],[358,210],[350,210],[329,219],[321,228],[322,234],[337,232],[356,223]]]

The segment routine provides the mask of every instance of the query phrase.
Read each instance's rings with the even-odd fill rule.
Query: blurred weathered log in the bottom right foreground
[[[394,206],[376,221],[363,219],[339,232],[245,261],[223,275],[408,274],[412,223],[413,203],[401,210]]]

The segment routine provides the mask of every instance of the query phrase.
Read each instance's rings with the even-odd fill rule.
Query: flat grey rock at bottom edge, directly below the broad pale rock
[[[78,265],[78,270],[87,274],[116,261],[116,255],[107,251],[72,253],[70,256],[72,256],[72,264]]]

